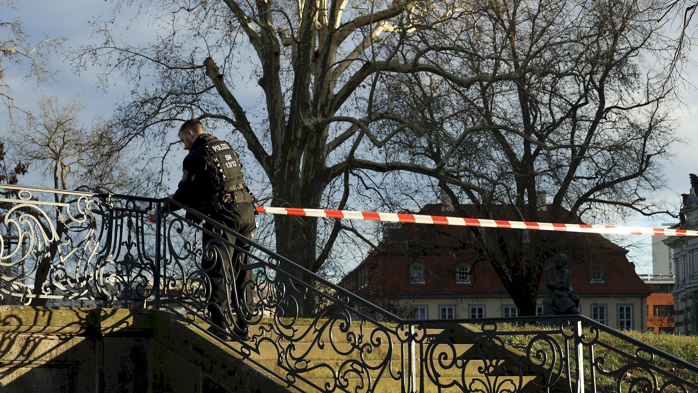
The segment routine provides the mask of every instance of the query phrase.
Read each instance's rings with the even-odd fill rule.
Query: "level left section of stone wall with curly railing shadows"
[[[1,311],[0,392],[149,391],[153,343],[146,329],[129,329],[133,315],[20,306]]]

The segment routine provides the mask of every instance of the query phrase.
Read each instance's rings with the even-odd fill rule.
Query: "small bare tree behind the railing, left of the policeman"
[[[39,101],[38,112],[36,115],[27,113],[24,127],[13,125],[20,157],[31,163],[36,173],[43,173],[50,187],[55,189],[133,194],[137,187],[147,184],[147,180],[134,181],[138,157],[133,156],[123,140],[98,120],[84,127],[80,110],[82,103],[76,99],[66,104],[61,104],[56,97]],[[54,194],[54,197],[56,203],[73,202],[69,194]],[[54,213],[56,224],[53,227],[57,235],[49,243],[47,252],[38,257],[34,294],[47,290],[47,274],[58,255],[58,248],[70,240],[70,229],[61,225],[66,220],[65,213],[60,210]],[[44,230],[52,233],[47,228]],[[43,306],[45,302],[46,299],[35,298],[32,304]]]

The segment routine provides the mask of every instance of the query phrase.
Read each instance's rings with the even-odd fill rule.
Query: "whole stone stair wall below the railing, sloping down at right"
[[[172,313],[0,306],[0,392],[283,392]]]

